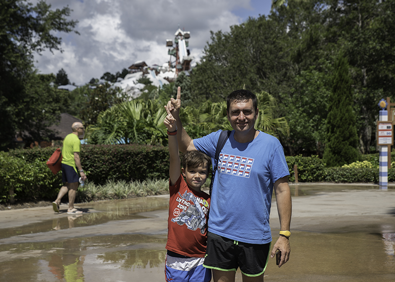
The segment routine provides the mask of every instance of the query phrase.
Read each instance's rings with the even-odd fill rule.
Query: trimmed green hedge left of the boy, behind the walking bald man
[[[62,174],[53,175],[46,161],[55,148],[0,152],[0,201],[54,199]],[[81,165],[88,180],[103,185],[109,179],[143,181],[168,178],[167,147],[147,145],[82,145]],[[9,195],[9,190],[14,194]]]

